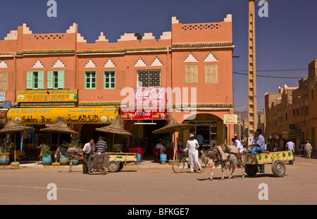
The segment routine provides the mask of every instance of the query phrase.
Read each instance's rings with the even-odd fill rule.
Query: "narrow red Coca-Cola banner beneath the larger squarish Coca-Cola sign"
[[[167,120],[167,109],[121,109],[123,120]]]

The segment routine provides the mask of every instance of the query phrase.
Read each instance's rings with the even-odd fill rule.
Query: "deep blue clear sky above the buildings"
[[[49,18],[46,0],[2,1],[0,39],[10,30],[27,23],[33,33],[66,32],[73,23],[88,43],[100,32],[109,42],[117,42],[125,32],[153,32],[159,39],[171,30],[171,17],[180,23],[220,22],[232,14],[235,51],[234,72],[247,73],[248,0],[56,0],[57,17]],[[256,16],[257,75],[306,77],[306,69],[317,58],[317,1],[268,0],[268,17]],[[256,4],[256,11],[260,6]],[[256,13],[257,14],[257,13]],[[278,92],[278,86],[297,87],[299,79],[257,77],[258,110],[264,107],[264,93]],[[247,75],[233,75],[236,111],[247,110]]]

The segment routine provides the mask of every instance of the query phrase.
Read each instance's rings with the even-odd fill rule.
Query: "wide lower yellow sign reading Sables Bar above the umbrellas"
[[[7,117],[20,124],[53,124],[58,116],[68,124],[111,124],[118,109],[108,108],[11,108]]]

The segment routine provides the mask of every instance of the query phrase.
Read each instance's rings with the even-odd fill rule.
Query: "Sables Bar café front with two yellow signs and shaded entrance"
[[[21,140],[28,147],[38,146],[43,141],[54,149],[58,133],[42,132],[41,129],[54,124],[58,117],[63,117],[69,127],[79,132],[82,143],[85,143],[90,137],[97,140],[95,128],[113,123],[118,115],[116,107],[75,107],[77,90],[74,89],[18,91],[17,101],[20,107],[9,109],[7,117],[34,127],[35,130],[22,134]],[[61,134],[60,143],[69,140],[70,134]]]

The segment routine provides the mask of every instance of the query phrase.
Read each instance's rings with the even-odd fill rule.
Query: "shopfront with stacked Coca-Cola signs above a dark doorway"
[[[167,124],[168,110],[165,87],[134,89],[132,107],[121,108],[121,118],[125,120],[125,130],[132,133],[129,147],[142,147],[146,155],[152,154],[154,146],[163,139],[163,144],[171,139],[171,134],[153,134]]]

